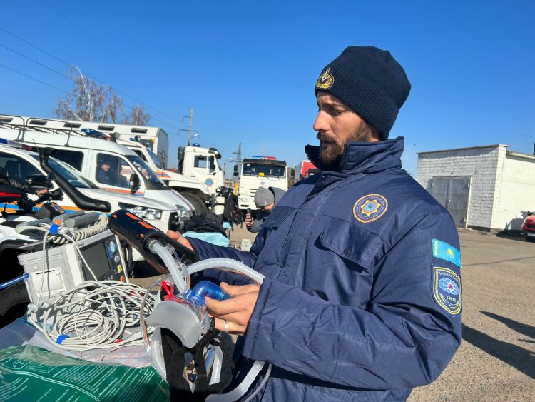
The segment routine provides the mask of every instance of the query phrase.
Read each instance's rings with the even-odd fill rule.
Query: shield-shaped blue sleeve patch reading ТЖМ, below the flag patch
[[[449,268],[433,266],[433,298],[453,316],[461,312],[461,278]]]

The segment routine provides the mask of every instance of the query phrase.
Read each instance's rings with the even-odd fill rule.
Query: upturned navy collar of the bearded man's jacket
[[[400,168],[404,142],[404,137],[379,142],[348,142],[345,144],[340,166],[335,171],[344,174],[357,174]],[[329,170],[318,158],[320,146],[307,145],[305,152],[317,169],[320,171]]]

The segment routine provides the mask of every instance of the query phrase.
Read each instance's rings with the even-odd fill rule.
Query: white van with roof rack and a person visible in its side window
[[[106,141],[91,132],[82,136],[51,126],[57,121],[0,115],[0,138],[28,144],[32,150],[52,147],[54,158],[65,161],[102,189],[144,196],[175,206],[180,221],[193,215],[193,206],[158,179],[150,166],[126,146]],[[79,124],[79,123],[78,123]]]

